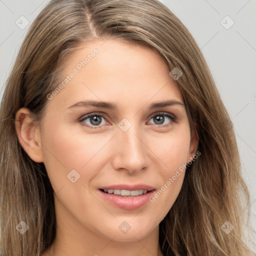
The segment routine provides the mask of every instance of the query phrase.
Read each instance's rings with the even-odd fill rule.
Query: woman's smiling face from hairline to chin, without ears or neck
[[[62,227],[132,241],[171,208],[195,143],[163,60],[139,45],[102,43],[84,43],[65,61],[40,125],[41,153]]]

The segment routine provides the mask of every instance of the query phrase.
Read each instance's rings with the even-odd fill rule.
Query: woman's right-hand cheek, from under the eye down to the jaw
[[[183,132],[179,131],[169,134],[169,136],[158,137],[157,140],[159,144],[153,150],[157,152],[159,161],[164,164],[160,163],[159,165],[162,166],[159,168],[160,187],[149,200],[159,209],[157,214],[161,219],[167,214],[180,192],[189,152],[190,133],[185,129]]]

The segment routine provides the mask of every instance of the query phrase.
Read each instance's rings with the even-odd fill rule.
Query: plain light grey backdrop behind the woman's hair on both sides
[[[0,96],[24,34],[47,2],[0,0]],[[256,228],[256,0],[161,2],[194,36],[232,118],[243,175],[251,194],[251,221]],[[24,29],[15,23],[21,23],[22,15],[29,21]],[[227,15],[234,21],[228,29],[222,25],[231,24]]]

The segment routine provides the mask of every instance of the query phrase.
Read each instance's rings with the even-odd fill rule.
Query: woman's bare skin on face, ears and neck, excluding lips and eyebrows
[[[110,205],[98,188],[144,183],[158,190],[196,152],[198,137],[195,131],[190,135],[184,105],[149,109],[169,99],[184,103],[163,60],[141,45],[103,42],[84,43],[65,61],[63,77],[94,48],[99,50],[47,100],[40,124],[31,121],[26,108],[16,113],[19,142],[31,159],[44,163],[54,190],[57,231],[43,256],[162,255],[158,225],[180,191],[184,172],[154,202],[135,210]],[[87,99],[110,101],[117,109],[68,108]],[[164,123],[159,124],[159,111],[177,121],[160,115]],[[79,121],[92,112],[105,113],[99,125],[89,118]],[[118,126],[123,118],[131,123],[126,131]],[[67,178],[71,169],[80,175],[74,183]],[[125,234],[118,228],[123,221],[131,226]]]

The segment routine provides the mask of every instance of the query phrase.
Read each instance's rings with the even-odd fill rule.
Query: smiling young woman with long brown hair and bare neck
[[[1,255],[249,255],[230,118],[155,0],[53,0],[0,109]]]

